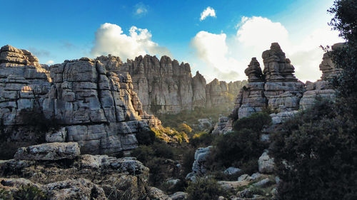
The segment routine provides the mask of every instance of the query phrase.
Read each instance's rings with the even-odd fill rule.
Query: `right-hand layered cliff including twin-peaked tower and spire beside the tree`
[[[338,43],[333,49],[340,48]],[[323,55],[320,65],[322,80],[305,84],[293,75],[291,61],[285,57],[278,43],[272,43],[271,49],[263,52],[264,70],[256,58],[246,68],[248,84],[241,89],[237,98],[234,112],[238,118],[248,117],[253,112],[260,112],[270,107],[277,112],[290,112],[306,109],[313,105],[317,96],[334,98],[334,90],[328,84],[328,79],[338,75],[341,69],[335,68],[328,53]]]

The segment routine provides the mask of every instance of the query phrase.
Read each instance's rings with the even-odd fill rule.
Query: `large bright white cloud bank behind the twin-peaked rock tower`
[[[324,53],[319,46],[342,42],[338,33],[327,25],[313,29],[309,35],[301,37],[303,39],[293,39],[281,23],[261,16],[243,16],[236,28],[236,35],[231,37],[225,33],[200,31],[191,42],[198,58],[206,63],[204,68],[224,80],[246,79],[243,71],[252,57],[258,58],[263,69],[261,54],[270,48],[271,43],[278,42],[294,65],[296,77],[315,81],[321,77],[318,65]]]

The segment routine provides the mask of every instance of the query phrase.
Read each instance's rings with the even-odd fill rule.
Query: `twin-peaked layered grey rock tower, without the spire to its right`
[[[278,43],[263,52],[264,70],[256,58],[246,68],[248,84],[239,92],[235,112],[239,118],[271,107],[278,112],[298,110],[303,83],[293,75],[294,68]]]

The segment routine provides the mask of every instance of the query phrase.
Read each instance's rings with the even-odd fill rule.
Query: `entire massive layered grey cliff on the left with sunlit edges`
[[[4,46],[0,62],[2,125],[27,125],[23,110],[43,112],[65,127],[62,140],[94,154],[133,149],[136,132],[161,125],[142,109],[131,76],[107,71],[100,60],[65,60],[45,68],[28,51]]]

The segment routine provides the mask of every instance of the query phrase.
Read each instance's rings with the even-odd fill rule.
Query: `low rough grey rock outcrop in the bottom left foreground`
[[[58,146],[44,145],[48,149]],[[43,161],[27,157],[26,152],[19,154],[27,159],[0,162],[0,189],[16,192],[20,186],[36,186],[48,199],[143,199],[152,190],[147,184],[149,169],[132,157],[74,152],[66,159]]]

